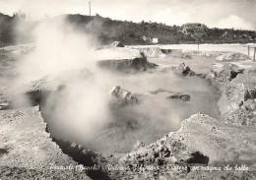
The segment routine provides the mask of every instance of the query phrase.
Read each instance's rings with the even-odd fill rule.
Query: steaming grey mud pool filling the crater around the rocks
[[[149,145],[169,132],[176,131],[179,129],[180,123],[191,114],[200,112],[219,118],[217,108],[219,94],[204,79],[180,77],[172,72],[160,72],[164,67],[190,61],[189,64],[193,64],[192,70],[196,72],[201,70],[200,73],[203,73],[212,64],[211,59],[204,64],[201,63],[205,62],[202,59],[154,58],[149,59],[149,61],[159,64],[159,67],[155,70],[136,74],[117,74],[107,71],[96,74],[96,78],[90,80],[93,83],[90,82],[89,85],[94,86],[97,82],[99,88],[96,90],[100,91],[100,95],[103,94],[103,96],[98,96],[95,91],[93,93],[90,91],[90,95],[86,97],[89,98],[86,100],[86,106],[96,106],[93,112],[90,111],[91,108],[81,107],[80,103],[67,103],[65,98],[68,98],[68,94],[65,94],[65,90],[55,92],[50,103],[49,100],[46,100],[46,103],[40,106],[51,136],[58,140],[76,142],[86,149],[103,152],[126,152],[132,150],[137,141]],[[114,86],[120,86],[124,90],[135,93],[140,103],[102,111],[100,109],[101,104],[98,106],[98,104],[94,104],[94,101],[98,101],[98,98],[109,100],[111,98],[109,90]],[[168,92],[157,94],[150,92],[158,89],[186,93],[191,95],[191,99],[190,101],[167,99]],[[76,91],[76,100],[81,100],[80,97],[86,91]],[[102,100],[102,104],[107,103],[107,100]],[[91,115],[76,120],[74,113],[91,113]],[[104,120],[101,121],[100,118]],[[94,124],[93,127],[91,126],[92,123]]]

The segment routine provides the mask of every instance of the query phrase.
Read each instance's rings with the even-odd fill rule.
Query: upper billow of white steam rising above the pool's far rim
[[[35,49],[19,66],[26,80],[81,69],[95,60],[96,39],[74,30],[64,16],[41,23],[33,33]]]

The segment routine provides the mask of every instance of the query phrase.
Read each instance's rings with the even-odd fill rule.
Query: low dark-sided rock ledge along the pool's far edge
[[[158,66],[154,63],[150,63],[145,57],[134,59],[102,60],[98,61],[97,65],[104,69],[124,73],[146,71],[147,69],[154,69]]]

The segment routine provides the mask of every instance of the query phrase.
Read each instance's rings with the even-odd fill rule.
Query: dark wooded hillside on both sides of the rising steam
[[[124,44],[151,44],[153,38],[158,38],[160,44],[247,43],[256,40],[253,30],[210,29],[202,24],[166,26],[151,22],[122,22],[98,15],[67,15],[66,20],[77,30],[95,34],[103,44],[116,40]],[[21,30],[15,30],[17,23]],[[4,44],[32,41],[32,29],[37,24],[25,21],[17,14],[13,17],[0,14],[0,40]]]

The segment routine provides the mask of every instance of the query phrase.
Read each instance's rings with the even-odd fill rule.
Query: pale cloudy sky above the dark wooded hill
[[[203,23],[209,27],[255,30],[256,0],[91,0],[92,14],[115,20],[166,25]],[[0,0],[0,12],[23,11],[32,19],[89,14],[89,0]]]

